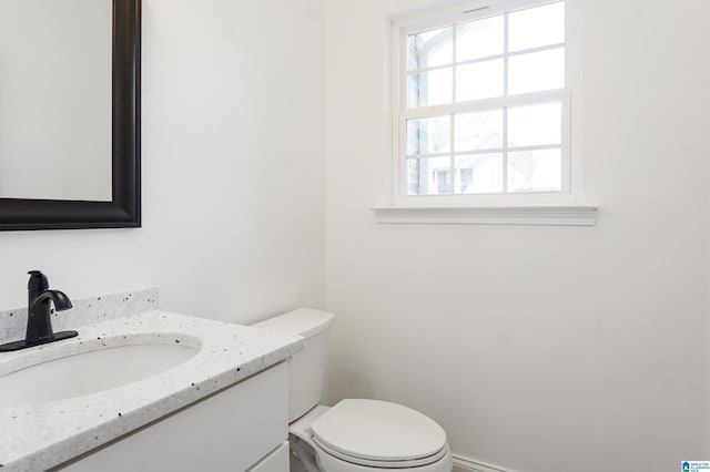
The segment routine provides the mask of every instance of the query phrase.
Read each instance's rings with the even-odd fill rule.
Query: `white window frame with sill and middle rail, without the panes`
[[[536,101],[540,98],[560,100],[562,102],[562,187],[561,192],[555,193],[500,193],[500,194],[466,194],[466,195],[408,195],[407,194],[407,160],[406,160],[406,121],[413,117],[428,115],[442,115],[457,113],[462,111],[473,111],[471,104],[462,105],[458,103],[446,105],[434,105],[428,107],[412,109],[406,107],[406,44],[407,37],[412,33],[442,28],[458,22],[475,20],[478,18],[491,17],[506,11],[515,11],[525,8],[551,3],[555,0],[476,0],[459,2],[417,12],[405,12],[392,16],[390,32],[390,90],[392,90],[392,147],[393,147],[393,195],[392,206],[373,208],[375,213],[383,215],[394,215],[393,208],[406,208],[407,215],[412,216],[412,209],[422,207],[427,209],[427,214],[433,214],[435,208],[486,208],[491,207],[516,208],[519,213],[521,208],[542,208],[546,212],[551,207],[562,209],[561,213],[569,214],[570,208],[575,218],[579,215],[575,209],[581,209],[582,219],[587,222],[588,212],[596,212],[596,206],[581,205],[581,156],[579,153],[579,133],[574,126],[580,124],[580,114],[572,107],[577,104],[577,96],[580,90],[580,12],[579,0],[565,0],[565,89],[552,92],[530,93],[516,95],[514,98],[491,99],[479,101],[478,109],[489,109],[494,106],[511,106]],[[452,213],[452,212],[448,212]],[[460,212],[459,212],[460,213]],[[507,212],[509,213],[509,212]],[[588,215],[587,215],[588,216]],[[383,219],[383,218],[381,218]],[[387,219],[387,218],[384,218]],[[440,215],[436,223],[440,222]],[[469,218],[470,219],[470,218]],[[476,219],[476,218],[473,218]],[[496,224],[499,224],[496,218]],[[504,218],[505,219],[505,218]],[[528,218],[524,218],[528,220]],[[532,218],[535,219],[535,218]],[[594,219],[594,218],[592,218]],[[409,223],[409,222],[407,222]],[[467,222],[463,222],[467,223]],[[587,223],[582,223],[587,224]],[[594,220],[592,223],[594,224]]]

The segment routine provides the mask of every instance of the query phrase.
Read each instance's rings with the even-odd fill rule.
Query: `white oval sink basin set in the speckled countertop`
[[[164,372],[199,352],[186,343],[128,345],[34,363],[0,377],[0,408],[82,397]],[[28,353],[29,356],[38,352]]]

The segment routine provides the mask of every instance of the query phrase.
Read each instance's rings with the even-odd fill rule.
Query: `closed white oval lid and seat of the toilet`
[[[446,433],[418,411],[378,400],[343,400],[311,424],[314,440],[341,456],[413,461],[438,456]]]

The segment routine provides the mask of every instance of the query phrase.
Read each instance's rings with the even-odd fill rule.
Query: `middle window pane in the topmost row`
[[[456,27],[456,61],[503,54],[504,17],[485,18]]]

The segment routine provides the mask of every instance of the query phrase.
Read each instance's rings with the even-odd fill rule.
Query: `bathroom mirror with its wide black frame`
[[[3,22],[36,32],[0,48],[0,230],[139,227],[141,0],[0,0]]]

